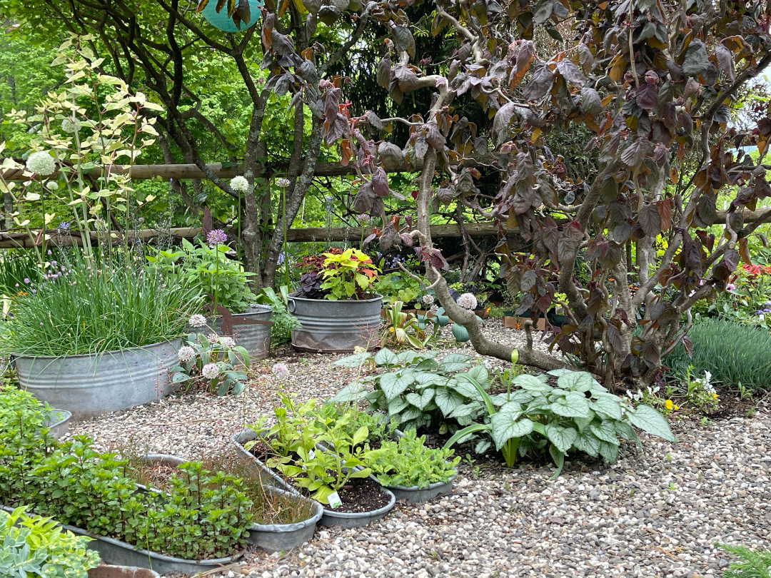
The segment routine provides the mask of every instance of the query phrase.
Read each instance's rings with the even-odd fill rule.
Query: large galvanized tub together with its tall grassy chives
[[[0,351],[13,355],[19,385],[75,418],[170,393],[197,291],[132,254],[65,259],[49,262],[0,324]]]

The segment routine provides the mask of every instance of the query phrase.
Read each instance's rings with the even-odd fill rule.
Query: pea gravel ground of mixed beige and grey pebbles
[[[523,340],[498,321],[486,331],[510,344]],[[70,431],[104,447],[132,441],[190,459],[232,452],[231,434],[270,415],[275,390],[328,398],[355,378],[355,370],[332,365],[339,357],[284,351],[253,365],[239,398],[188,392]],[[271,374],[276,361],[290,369],[283,382]],[[751,418],[672,426],[676,444],[646,435],[642,452],[629,446],[613,466],[571,459],[557,480],[548,465],[464,461],[451,496],[397,503],[365,528],[319,528],[294,552],[249,552],[207,576],[720,576],[729,560],[715,542],[771,546],[771,412],[761,405]]]

